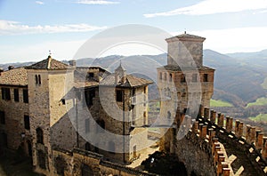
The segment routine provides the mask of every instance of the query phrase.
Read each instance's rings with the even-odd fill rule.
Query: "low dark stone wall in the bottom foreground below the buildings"
[[[74,148],[72,151],[53,149],[53,175],[154,175],[137,171],[121,164],[110,163],[104,156]]]

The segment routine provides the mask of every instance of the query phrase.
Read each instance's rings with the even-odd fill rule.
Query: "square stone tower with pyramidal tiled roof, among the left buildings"
[[[61,143],[63,139],[60,132],[52,132],[55,124],[61,123],[62,116],[65,116],[69,109],[66,105],[72,103],[71,100],[65,100],[65,95],[70,92],[73,83],[73,68],[68,65],[53,60],[48,56],[29,66],[28,68],[28,106],[30,116],[30,128],[33,143],[33,165],[36,172],[43,172],[53,168],[52,147],[56,143]],[[69,148],[74,147],[75,141],[71,134],[71,125],[69,126]],[[64,131],[64,126],[58,125]],[[71,140],[72,139],[72,140]],[[66,147],[68,148],[68,147]]]

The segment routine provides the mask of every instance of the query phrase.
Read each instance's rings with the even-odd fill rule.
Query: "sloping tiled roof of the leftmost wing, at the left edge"
[[[14,68],[1,73],[0,84],[28,85],[28,74],[25,68]]]

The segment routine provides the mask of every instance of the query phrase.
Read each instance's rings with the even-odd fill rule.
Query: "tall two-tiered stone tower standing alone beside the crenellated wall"
[[[206,38],[182,34],[167,38],[167,65],[158,68],[161,92],[161,121],[171,126],[182,124],[184,114],[196,118],[199,106],[209,107],[214,92],[214,69],[203,66],[203,42]],[[165,131],[166,132],[166,131]],[[166,132],[163,145],[174,152]]]

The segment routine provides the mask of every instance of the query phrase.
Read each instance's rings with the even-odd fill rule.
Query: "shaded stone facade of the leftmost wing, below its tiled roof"
[[[11,100],[2,99],[2,89],[9,88]],[[14,100],[14,89],[19,90],[19,101]],[[21,147],[26,155],[31,155],[31,138],[28,129],[25,129],[24,116],[28,116],[28,103],[23,102],[23,90],[27,86],[0,86],[0,111],[4,112],[4,124],[0,123],[0,148],[6,146],[4,135],[7,138],[7,148],[18,149]]]

